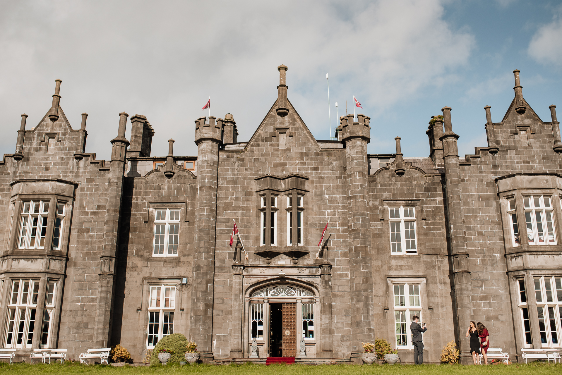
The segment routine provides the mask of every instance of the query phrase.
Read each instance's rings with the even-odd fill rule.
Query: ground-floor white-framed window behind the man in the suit
[[[396,347],[412,349],[412,332],[410,324],[414,315],[418,315],[422,322],[422,299],[420,297],[419,283],[395,283],[394,290],[394,316],[396,328]]]

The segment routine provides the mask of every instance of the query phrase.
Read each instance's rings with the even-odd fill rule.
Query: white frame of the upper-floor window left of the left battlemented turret
[[[165,211],[165,217],[162,218],[158,212]],[[173,217],[171,214],[173,213]],[[181,217],[181,209],[180,208],[155,208],[154,211],[154,235],[152,237],[152,256],[153,257],[177,257],[179,253],[179,230],[180,230],[180,217]],[[161,228],[160,226],[164,226],[164,233],[157,233],[156,231]],[[170,228],[174,227],[177,229],[177,233],[170,234]],[[162,239],[162,235],[164,238]],[[160,236],[160,237],[157,237]],[[171,237],[175,236],[175,237]],[[175,244],[170,243],[170,239],[175,240]],[[156,241],[158,240],[158,243]],[[163,243],[160,241],[163,240]],[[174,246],[175,249],[170,246]],[[158,249],[158,253],[156,254],[156,246],[164,246],[162,251],[163,253],[160,254],[160,249]],[[174,252],[175,251],[175,252]]]

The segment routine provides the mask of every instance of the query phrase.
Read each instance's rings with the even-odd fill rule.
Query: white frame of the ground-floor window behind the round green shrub
[[[170,291],[169,297],[166,297],[166,290]],[[158,285],[154,285],[154,284],[149,285],[148,309],[147,309],[148,319],[147,319],[147,336],[146,336],[147,349],[154,349],[157,342],[162,340],[162,337],[174,333],[176,296],[177,296],[177,290],[175,285],[170,285],[165,283],[158,284]],[[156,316],[156,313],[158,314],[157,323],[151,322],[151,313],[153,314],[152,316]],[[168,314],[168,319],[169,319],[168,322],[164,322],[165,313]],[[170,322],[170,317],[173,320],[172,322]],[[152,331],[151,333],[150,330],[151,324],[158,324],[156,333],[154,331]],[[164,327],[165,324],[167,324],[166,330]],[[156,342],[152,341],[152,345],[149,345],[150,336],[156,336],[157,338]]]

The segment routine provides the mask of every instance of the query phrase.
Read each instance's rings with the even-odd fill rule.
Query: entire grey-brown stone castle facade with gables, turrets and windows
[[[413,362],[411,316],[427,323],[425,361],[469,321],[511,359],[560,347],[562,141],[522,95],[487,147],[460,158],[451,108],[426,132],[429,157],[368,154],[370,118],[340,118],[316,140],[287,98],[248,141],[232,115],[195,121],[197,156],[151,156],[146,117],[119,114],[110,160],[85,153],[52,107],[0,161],[0,341],[20,360],[121,344],[140,362],[183,333],[205,362],[360,362],[382,337]],[[444,127],[444,129],[443,129]],[[422,129],[420,129],[420,132]],[[234,236],[233,219],[239,236]],[[318,246],[328,222],[324,240]],[[559,244],[560,243],[560,244]]]

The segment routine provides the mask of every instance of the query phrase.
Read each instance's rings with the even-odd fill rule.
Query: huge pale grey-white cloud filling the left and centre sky
[[[89,114],[87,152],[99,157],[121,111],[148,117],[153,154],[170,137],[175,154],[196,154],[193,121],[209,95],[212,115],[233,113],[247,140],[277,97],[282,63],[289,99],[325,139],[327,72],[339,114],[356,95],[371,117],[455,76],[475,42],[443,15],[438,0],[4,2],[0,102],[13,139],[0,146],[13,152],[20,113],[37,124],[57,78],[71,124]]]

